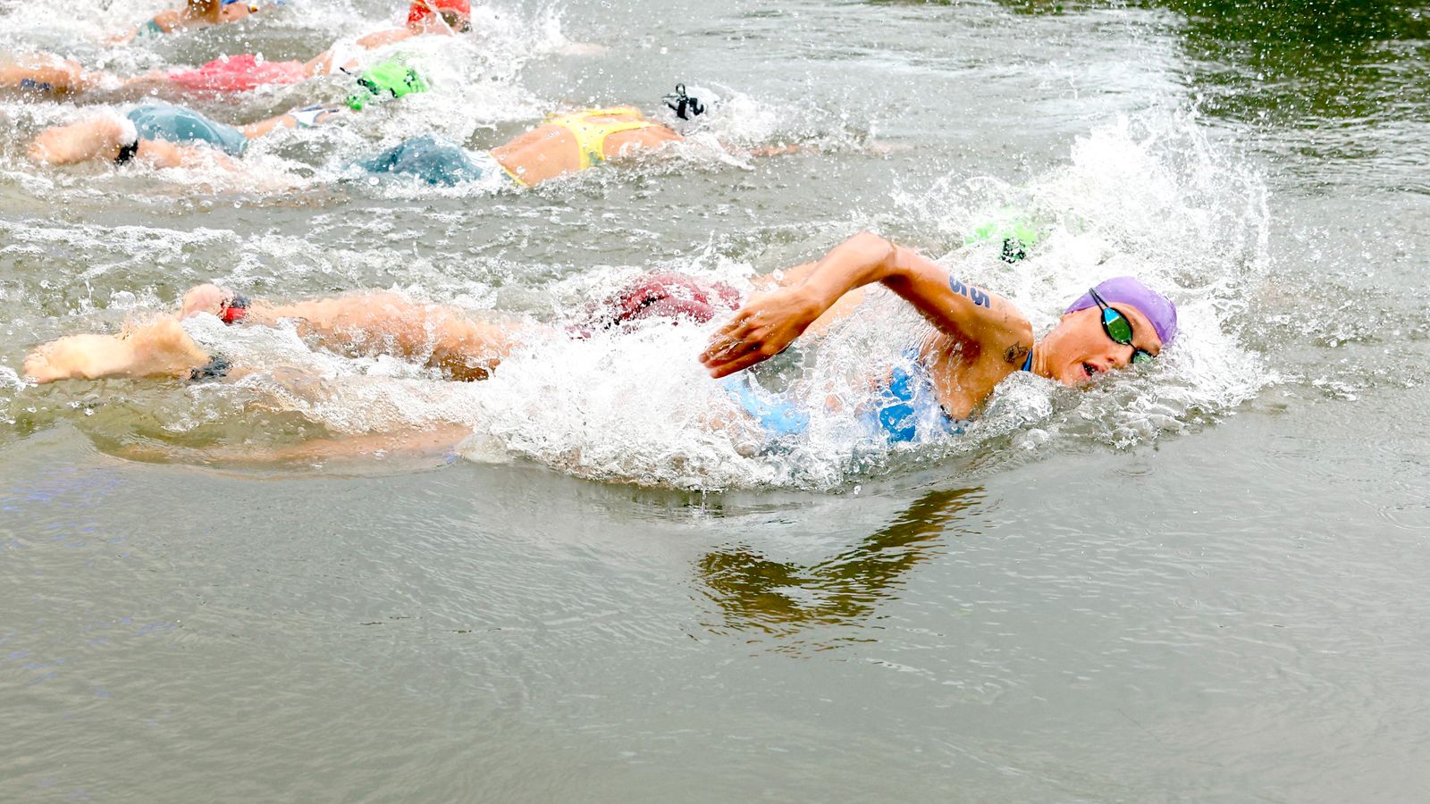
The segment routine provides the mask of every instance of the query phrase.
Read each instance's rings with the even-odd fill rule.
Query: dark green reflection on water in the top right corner
[[[1276,130],[1261,144],[1296,170],[1320,160],[1373,159],[1371,183],[1423,187],[1430,109],[1430,9],[1357,0],[997,0],[1014,13],[1061,14],[1128,6],[1167,10],[1188,56],[1198,107],[1213,117]],[[1367,132],[1374,132],[1367,136]],[[1307,162],[1304,157],[1311,157]],[[1331,180],[1343,182],[1344,175]]]

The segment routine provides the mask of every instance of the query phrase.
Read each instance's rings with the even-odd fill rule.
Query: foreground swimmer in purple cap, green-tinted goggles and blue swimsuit
[[[891,443],[915,441],[930,431],[960,432],[960,423],[1014,372],[1081,385],[1154,359],[1177,335],[1173,302],[1134,278],[1120,276],[1074,299],[1057,326],[1035,340],[1032,325],[1007,299],[965,285],[938,263],[865,232],[818,262],[785,272],[769,290],[751,295],[711,336],[698,359],[716,379],[749,369],[802,335],[818,335],[854,315],[869,285],[902,298],[934,326],[932,333],[909,332],[905,359],[882,378],[871,378],[878,391],[859,415]],[[669,289],[654,289],[649,302],[661,303],[662,293],[672,296]],[[645,302],[636,299],[635,306],[644,308]],[[724,302],[702,303],[716,315]],[[24,361],[24,373],[41,383],[110,376],[204,381],[256,368],[232,366],[194,342],[180,320],[200,313],[263,326],[290,320],[300,336],[320,348],[395,355],[458,381],[485,379],[519,345],[563,336],[551,328],[478,320],[455,308],[419,305],[396,293],[269,305],[209,285],[190,290],[176,316],[119,336],[73,335],[40,346]],[[708,318],[692,313],[689,306],[678,315]],[[824,403],[769,402],[749,393],[738,379],[725,382],[735,405],[771,438],[801,432],[811,406]],[[420,438],[429,439],[430,433]],[[362,448],[355,445],[356,451]]]

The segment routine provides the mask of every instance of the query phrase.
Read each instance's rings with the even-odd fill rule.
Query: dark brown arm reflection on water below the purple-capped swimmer
[[[888,526],[818,564],[771,561],[732,545],[704,555],[696,568],[725,615],[724,628],[792,637],[814,625],[858,624],[982,499],[981,486],[931,491]]]

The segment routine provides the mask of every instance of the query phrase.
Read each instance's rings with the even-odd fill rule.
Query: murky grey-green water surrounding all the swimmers
[[[132,72],[306,56],[388,20],[353,6],[116,53],[99,9],[0,13],[6,49]],[[458,389],[246,332],[225,348],[333,382],[11,378],[0,800],[1421,797],[1430,6],[478,17],[480,44],[418,54],[429,97],[263,143],[240,179],[40,170],[24,142],[76,107],[0,102],[0,366],[203,280],[559,322],[639,270],[742,282],[859,227],[1041,326],[1138,272],[1175,289],[1185,335],[1150,373],[1015,378],[967,438],[878,454],[691,436],[681,402],[718,393],[678,328]],[[722,139],[807,149],[696,143],[526,195],[345,172],[425,130],[480,147],[563,102],[654,107],[675,80],[729,89]],[[250,120],[342,92],[199,106]],[[1050,230],[1015,268],[965,245],[1005,206]],[[480,449],[204,459],[435,419]]]

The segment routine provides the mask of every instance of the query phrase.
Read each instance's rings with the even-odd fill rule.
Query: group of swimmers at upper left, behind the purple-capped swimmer
[[[190,0],[183,14],[174,14],[193,20],[192,24],[220,24],[230,17],[242,19],[222,11],[227,7],[230,4],[223,0]],[[219,16],[212,17],[210,11]],[[167,19],[166,14],[150,24],[159,27],[157,20]],[[170,26],[164,30],[176,29]],[[233,157],[242,156],[256,137],[280,129],[327,123],[346,112],[360,112],[378,97],[403,97],[428,90],[422,76],[400,59],[385,59],[362,67],[359,56],[363,52],[386,49],[418,36],[450,37],[470,30],[468,0],[413,0],[403,27],[342,40],[307,62],[269,62],[259,54],[243,53],[222,56],[194,69],[119,77],[87,70],[77,62],[54,54],[27,53],[0,64],[0,89],[50,96],[79,96],[89,92],[149,96],[160,90],[212,94],[290,84],[332,73],[352,76],[353,93],[343,104],[309,106],[236,126],[213,120],[190,107],[147,102],[127,114],[90,114],[70,124],[50,127],[40,132],[29,149],[34,162],[56,166],[113,162],[120,166],[219,166],[240,170],[242,166]],[[662,100],[665,122],[652,120],[633,106],[581,109],[552,114],[535,129],[490,150],[472,152],[428,134],[412,137],[358,165],[372,173],[413,176],[432,185],[485,182],[492,186],[531,187],[619,156],[659,152],[661,146],[681,140],[698,129],[708,119],[705,116],[721,104],[714,92],[686,89],[685,84],[678,84]]]

